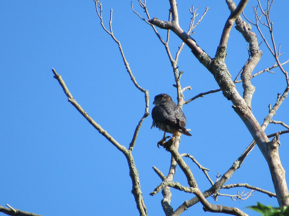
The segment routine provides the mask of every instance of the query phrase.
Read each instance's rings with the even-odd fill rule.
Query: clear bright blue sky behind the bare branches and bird
[[[144,16],[138,2],[133,3],[135,10]],[[206,6],[210,7],[192,36],[203,50],[214,56],[229,16],[225,1],[178,1],[178,4],[183,29],[188,28],[191,16],[188,8],[192,4],[200,4],[200,15]],[[253,20],[251,5],[257,5],[257,1],[250,0],[245,10]],[[151,17],[168,18],[168,1],[147,0],[147,7]],[[284,52],[281,62],[289,59],[288,7],[287,1],[274,2],[271,16],[276,43],[281,43],[281,52]],[[103,1],[107,27],[110,8],[113,8],[114,34],[121,41],[136,81],[149,90],[149,110],[156,94],[170,94],[176,101],[170,62],[151,27],[132,12],[130,1],[115,0]],[[138,215],[125,157],[67,102],[51,71],[53,67],[61,74],[84,110],[114,139],[128,147],[144,112],[144,95],[131,82],[117,44],[101,28],[94,1],[1,1],[0,29],[0,205],[8,203],[16,209],[46,216]],[[159,32],[165,37],[166,31]],[[260,35],[258,39],[262,41]],[[171,33],[171,52],[175,53],[180,44],[180,39]],[[264,43],[260,48],[264,54],[254,72],[275,62]],[[226,63],[234,78],[248,58],[247,43],[234,28],[227,54]],[[192,86],[192,90],[184,93],[185,99],[218,88],[214,77],[187,47],[182,50],[178,65],[185,71],[182,87]],[[288,70],[288,65],[284,68]],[[273,71],[275,74],[263,73],[252,79],[256,87],[252,109],[260,123],[268,114],[268,105],[274,104],[277,93],[283,93],[286,87],[281,71]],[[243,92],[241,84],[237,84],[237,88]],[[281,105],[274,120],[289,124],[288,100]],[[192,154],[210,169],[210,177],[215,180],[218,172],[223,174],[242,154],[252,137],[221,92],[184,105],[184,113],[193,137],[181,137],[180,153]],[[151,167],[156,166],[167,174],[170,154],[157,148],[162,132],[156,128],[151,130],[151,122],[151,116],[144,120],[133,155],[148,214],[163,215],[162,195],[149,196],[161,183]],[[266,133],[284,129],[269,125]],[[281,161],[285,170],[289,170],[289,135],[282,135],[280,140]],[[210,183],[201,170],[190,160],[186,162],[201,190],[208,189]],[[183,185],[187,182],[179,168],[174,180]],[[268,166],[257,147],[227,183],[248,183],[274,192]],[[221,190],[221,193],[236,194],[242,190]],[[175,209],[193,197],[171,191]],[[213,198],[208,200],[239,207],[249,215],[257,213],[245,207],[257,201],[277,206],[275,198],[259,192],[253,194],[243,201],[232,201],[228,197],[219,197],[218,202]],[[201,204],[183,213],[192,214],[212,215],[204,213]]]

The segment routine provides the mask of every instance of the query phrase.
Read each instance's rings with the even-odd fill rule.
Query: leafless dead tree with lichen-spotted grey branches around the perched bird
[[[103,23],[103,16],[102,16],[102,4],[98,0],[95,1],[95,7],[97,16],[100,19],[100,23],[102,28],[106,33],[108,33],[112,39],[117,43],[121,56],[123,58],[123,62],[125,63],[126,70],[131,78],[131,81],[135,85],[135,87],[143,92],[144,94],[144,113],[142,114],[140,121],[138,122],[136,129],[134,131],[134,135],[131,139],[131,143],[128,147],[125,147],[125,145],[122,145],[118,143],[117,140],[115,140],[107,131],[105,131],[97,122],[95,122],[89,115],[84,111],[84,109],[77,103],[77,101],[73,98],[72,94],[69,92],[68,88],[66,87],[66,84],[64,83],[64,80],[58,73],[52,69],[54,78],[58,80],[60,86],[64,90],[64,93],[68,97],[68,101],[81,113],[81,115],[84,116],[88,120],[88,122],[101,134],[103,135],[112,145],[114,145],[119,151],[123,153],[127,160],[127,164],[129,167],[129,175],[131,177],[132,181],[132,194],[134,195],[136,206],[139,211],[140,215],[148,215],[147,209],[144,204],[144,199],[142,195],[142,191],[140,188],[140,179],[139,179],[139,173],[137,164],[134,162],[133,157],[133,148],[136,145],[136,138],[138,136],[138,132],[140,131],[142,122],[145,120],[147,116],[149,116],[149,91],[142,88],[136,81],[136,78],[134,77],[129,64],[125,58],[125,54],[123,52],[122,46],[120,41],[116,39],[113,33],[112,29],[112,10],[110,11],[110,22],[109,26],[105,26]],[[188,104],[191,101],[195,100],[196,98],[203,97],[207,94],[212,94],[214,92],[222,91],[223,95],[227,100],[230,100],[232,103],[232,108],[236,112],[236,114],[240,117],[244,125],[247,127],[248,131],[251,133],[253,137],[253,141],[250,143],[249,147],[245,149],[245,151],[240,155],[239,158],[237,158],[233,164],[230,165],[227,172],[223,174],[222,176],[217,177],[217,181],[212,181],[211,177],[208,174],[209,169],[203,167],[195,158],[188,153],[180,154],[179,149],[179,143],[180,143],[180,137],[174,137],[170,140],[168,140],[164,145],[166,147],[166,150],[170,152],[171,154],[171,160],[170,160],[170,166],[168,175],[164,175],[162,171],[160,171],[155,166],[153,167],[153,170],[155,173],[161,178],[162,182],[155,187],[155,189],[151,192],[150,195],[155,195],[158,192],[162,192],[163,199],[161,201],[162,208],[164,210],[165,215],[167,216],[173,216],[173,215],[181,215],[185,210],[189,209],[191,206],[196,204],[197,202],[201,202],[203,205],[204,211],[210,211],[210,212],[216,212],[216,213],[227,213],[231,215],[247,215],[243,211],[241,211],[238,208],[235,207],[229,207],[229,206],[223,206],[223,205],[216,205],[210,203],[206,198],[209,196],[213,196],[215,200],[218,196],[230,196],[233,200],[242,200],[247,199],[251,196],[251,194],[254,191],[262,192],[264,194],[268,194],[271,197],[276,197],[279,203],[279,206],[288,206],[289,205],[289,197],[288,197],[288,186],[286,183],[285,178],[285,170],[282,167],[281,160],[279,158],[279,152],[278,148],[280,145],[279,137],[281,134],[285,134],[289,132],[289,126],[286,125],[282,121],[275,121],[273,120],[273,116],[276,114],[277,109],[281,106],[282,102],[285,100],[285,98],[288,95],[289,92],[289,77],[288,72],[283,68],[283,65],[288,63],[289,60],[286,62],[280,62],[279,57],[281,56],[280,52],[280,46],[279,48],[276,46],[274,37],[273,37],[273,22],[270,20],[270,10],[273,4],[273,1],[268,1],[268,4],[266,5],[266,9],[264,9],[258,0],[258,6],[254,7],[254,13],[255,13],[255,20],[251,21],[247,19],[247,17],[244,15],[245,20],[241,18],[241,14],[244,10],[244,8],[247,5],[248,0],[241,0],[238,5],[232,1],[232,0],[226,0],[226,3],[228,5],[228,8],[231,12],[230,16],[228,17],[227,21],[224,24],[223,33],[220,38],[219,46],[216,47],[216,54],[215,56],[209,56],[198,44],[197,41],[195,41],[192,38],[192,30],[201,22],[203,17],[205,16],[206,12],[208,11],[208,7],[205,9],[203,15],[199,18],[197,22],[195,22],[195,19],[197,17],[197,9],[195,9],[193,6],[190,8],[190,12],[192,14],[192,19],[189,24],[188,31],[184,31],[182,27],[179,25],[179,16],[178,16],[178,9],[177,9],[177,2],[175,0],[169,0],[170,3],[170,10],[168,14],[168,21],[160,20],[158,18],[151,18],[148,8],[146,6],[146,1],[138,0],[138,3],[140,7],[144,10],[144,14],[146,18],[143,18],[142,15],[137,12],[137,10],[134,9],[133,4],[131,3],[131,7],[133,12],[142,20],[144,20],[148,25],[150,25],[154,31],[154,33],[157,35],[160,42],[164,45],[164,48],[166,50],[166,53],[168,55],[168,58],[171,62],[172,71],[175,78],[175,88],[177,90],[177,102],[180,107],[182,107],[184,104]],[[157,16],[157,14],[155,15]],[[257,63],[260,61],[260,58],[262,56],[262,51],[259,49],[259,42],[257,40],[256,33],[254,32],[252,26],[250,23],[255,27],[255,30],[258,31],[258,33],[262,36],[262,39],[264,43],[266,44],[267,48],[271,52],[271,54],[275,58],[275,64],[271,67],[268,67],[262,71],[258,71],[257,73],[253,73],[253,70]],[[244,40],[248,43],[248,52],[249,52],[249,58],[247,62],[244,63],[243,68],[240,70],[240,73],[236,76],[236,78],[233,80],[231,79],[231,74],[229,70],[227,69],[227,65],[225,63],[225,58],[227,56],[226,49],[227,49],[227,43],[229,40],[229,35],[231,32],[232,27],[235,25],[235,28],[242,34],[244,37]],[[270,40],[266,39],[264,34],[262,33],[260,25],[265,26],[269,33],[270,33]],[[163,39],[160,34],[158,33],[158,28],[160,29],[166,29],[167,30],[167,37],[166,39]],[[175,55],[175,58],[173,57],[171,50],[168,46],[168,41],[170,34],[174,33],[177,35],[183,42],[178,48],[178,51]],[[181,75],[183,71],[179,70],[178,67],[178,59],[179,54],[184,46],[188,46],[190,50],[192,51],[192,58],[195,58],[199,60],[199,62],[205,66],[207,71],[210,71],[212,75],[214,76],[219,89],[216,90],[210,90],[208,92],[202,92],[197,94],[196,96],[185,100],[183,92],[187,89],[191,89],[190,86],[181,87]],[[260,75],[261,73],[268,71],[271,72],[271,69],[273,68],[279,68],[280,71],[284,74],[284,77],[286,79],[286,86],[284,87],[284,92],[282,94],[278,94],[276,103],[271,106],[269,105],[269,113],[264,118],[264,122],[262,124],[259,124],[254,116],[255,110],[252,109],[251,101],[252,96],[255,92],[255,87],[251,84],[251,79],[257,75]],[[238,79],[240,76],[240,79]],[[244,89],[243,95],[241,95],[238,90],[236,89],[235,84],[242,82],[242,87]],[[286,130],[276,132],[274,134],[267,135],[264,132],[264,129],[268,126],[268,124],[281,124],[286,128]],[[269,138],[273,137],[271,141]],[[269,192],[266,190],[263,190],[258,187],[254,187],[252,185],[249,185],[247,183],[241,184],[230,184],[225,185],[225,183],[232,177],[234,172],[240,168],[241,164],[244,162],[247,155],[251,152],[251,150],[254,148],[254,146],[257,144],[259,149],[261,150],[264,158],[266,159],[266,162],[268,163],[269,170],[271,172],[272,181],[275,187],[275,193]],[[190,158],[197,166],[203,171],[206,179],[210,182],[210,187],[208,187],[207,190],[204,192],[201,192],[201,190],[198,187],[197,181],[194,178],[194,175],[192,171],[190,170],[190,167],[186,162],[184,161],[184,157]],[[174,176],[176,173],[176,166],[179,166],[182,170],[182,172],[185,174],[186,179],[188,181],[188,185],[184,186],[181,185],[179,182],[173,181]],[[157,183],[156,183],[157,185]],[[234,195],[228,195],[228,194],[222,194],[220,193],[221,189],[229,189],[234,187],[245,187],[250,189],[250,192],[244,193],[238,193]],[[194,194],[195,197],[184,201],[183,204],[178,206],[175,210],[171,206],[171,188],[174,188],[176,190],[180,190],[186,193]],[[8,205],[9,208],[4,208],[3,206],[0,206],[0,212],[3,212],[7,215],[36,215],[33,213],[28,212],[22,212],[20,210],[14,209],[11,206]]]

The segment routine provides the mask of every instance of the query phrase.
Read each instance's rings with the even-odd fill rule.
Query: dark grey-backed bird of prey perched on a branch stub
[[[181,108],[173,102],[171,96],[158,94],[155,96],[153,104],[155,104],[155,107],[153,107],[151,112],[151,117],[153,118],[151,128],[155,126],[164,131],[164,137],[158,142],[158,145],[162,145],[169,138],[166,137],[166,132],[173,134],[173,137],[179,136],[179,133],[192,136],[185,128],[187,124],[186,116]]]

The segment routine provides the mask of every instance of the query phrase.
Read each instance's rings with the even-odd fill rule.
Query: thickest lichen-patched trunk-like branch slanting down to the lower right
[[[171,0],[170,4],[171,12],[173,15],[172,22],[165,22],[156,18],[149,20],[149,22],[163,29],[171,29],[192,49],[193,54],[214,75],[218,85],[222,89],[224,96],[232,101],[234,110],[243,120],[244,124],[247,126],[248,130],[253,136],[253,139],[256,141],[258,147],[264,155],[270,168],[280,206],[287,205],[289,199],[283,199],[283,197],[288,195],[288,187],[285,181],[285,171],[279,158],[278,148],[268,140],[268,137],[264,133],[264,130],[262,130],[261,126],[258,124],[246,101],[244,101],[244,99],[236,90],[236,87],[231,80],[231,75],[227,70],[225,63],[223,62],[223,59],[226,56],[225,47],[219,46],[214,59],[210,58],[208,54],[201,51],[201,48],[196,45],[195,41],[193,41],[193,39],[184,33],[184,31],[180,28],[178,24],[176,2]],[[241,12],[242,11],[240,11],[240,13]],[[240,13],[238,12],[238,14]],[[284,179],[284,181],[280,181],[280,179]]]

